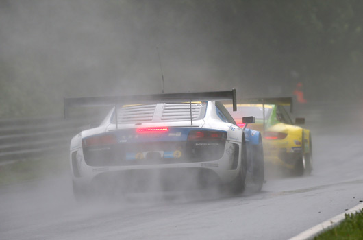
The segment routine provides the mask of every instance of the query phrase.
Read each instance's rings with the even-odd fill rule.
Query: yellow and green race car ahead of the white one
[[[237,111],[232,111],[231,104],[225,107],[236,123],[243,127],[242,117],[253,116],[255,123],[248,128],[262,132],[264,161],[288,169],[296,176],[312,171],[312,137],[310,130],[301,128],[304,118],[292,122],[284,106],[290,106],[292,98],[255,98],[237,101]]]

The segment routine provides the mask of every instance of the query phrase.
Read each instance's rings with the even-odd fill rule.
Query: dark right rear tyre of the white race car
[[[245,180],[247,173],[247,152],[245,136],[242,141],[242,156],[238,176],[230,183],[229,190],[233,194],[240,194],[245,191]]]

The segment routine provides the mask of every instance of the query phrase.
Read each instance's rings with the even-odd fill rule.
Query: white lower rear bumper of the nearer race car
[[[127,165],[127,166],[89,166],[85,163],[82,149],[71,153],[71,166],[73,170],[73,181],[81,185],[90,185],[94,182],[123,182],[132,184],[135,182],[148,183],[151,179],[162,182],[231,182],[238,175],[240,157],[231,154],[230,147],[236,147],[236,143],[226,142],[225,153],[218,160],[193,162],[193,163],[168,163],[150,165]],[[238,156],[240,156],[240,145]],[[173,180],[174,179],[174,180]]]

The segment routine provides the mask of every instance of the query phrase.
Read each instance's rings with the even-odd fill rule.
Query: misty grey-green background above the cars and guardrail
[[[62,98],[221,91],[356,99],[359,1],[1,1],[2,117]]]

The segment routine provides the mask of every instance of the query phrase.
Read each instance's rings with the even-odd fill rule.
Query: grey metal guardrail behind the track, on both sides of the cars
[[[297,117],[306,117],[306,127],[336,126],[351,120],[363,122],[362,102],[314,102],[297,106]],[[89,123],[99,122],[95,117],[64,119],[0,119],[0,164],[14,160],[27,160],[48,154],[66,153],[71,138],[87,128]],[[320,129],[320,128],[318,128]]]

